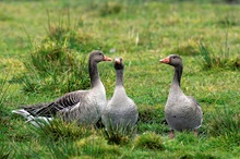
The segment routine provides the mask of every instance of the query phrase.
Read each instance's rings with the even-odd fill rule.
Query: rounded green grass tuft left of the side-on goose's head
[[[68,39],[46,40],[31,52],[31,63],[39,75],[44,76],[48,72],[59,75],[76,65],[75,57],[76,54],[68,48]]]

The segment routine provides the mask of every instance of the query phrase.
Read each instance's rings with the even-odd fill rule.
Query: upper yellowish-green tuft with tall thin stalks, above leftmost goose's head
[[[70,14],[70,13],[69,13]],[[104,46],[96,36],[82,28],[84,20],[79,20],[79,22],[71,22],[70,15],[68,20],[59,20],[58,24],[51,24],[50,17],[48,15],[48,30],[47,36],[43,39],[43,44],[48,41],[60,42],[61,46],[68,42],[67,49],[77,50],[83,54],[91,52],[92,50],[97,50]]]

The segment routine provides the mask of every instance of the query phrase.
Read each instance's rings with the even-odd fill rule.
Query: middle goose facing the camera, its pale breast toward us
[[[139,118],[137,107],[128,97],[123,86],[123,69],[121,58],[115,59],[116,87],[112,98],[103,112],[101,120],[107,131],[130,131]]]

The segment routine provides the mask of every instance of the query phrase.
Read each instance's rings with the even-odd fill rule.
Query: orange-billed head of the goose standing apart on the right
[[[159,62],[172,65],[175,68],[182,66],[182,59],[178,54],[170,54],[167,58],[159,60]]]

